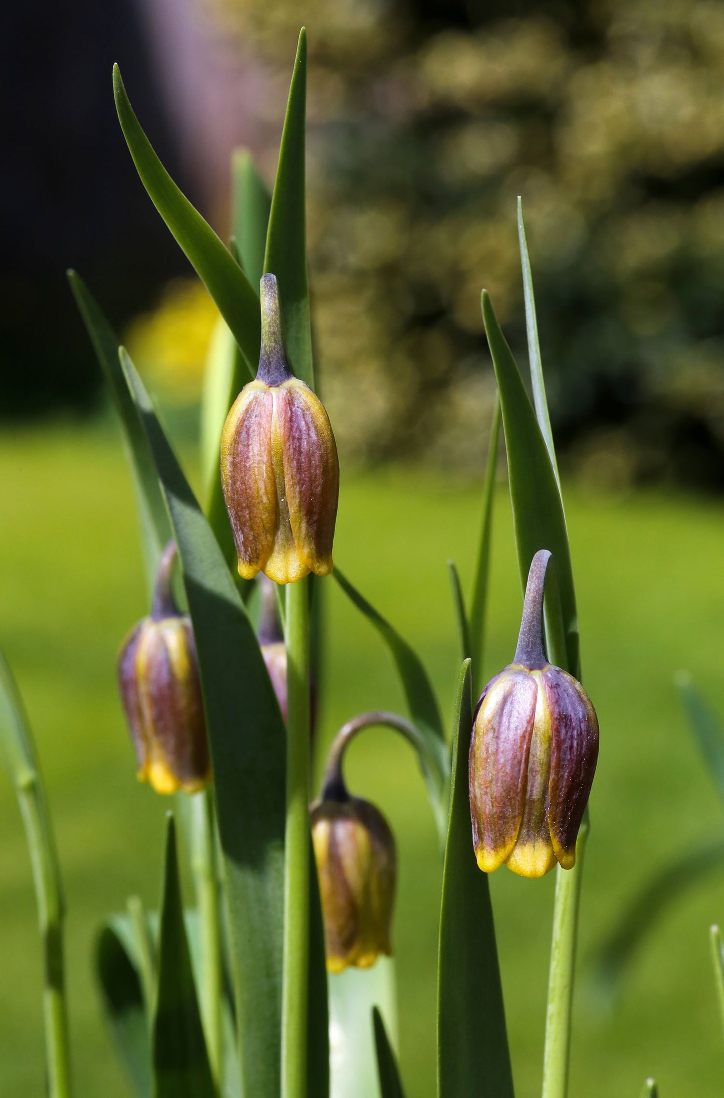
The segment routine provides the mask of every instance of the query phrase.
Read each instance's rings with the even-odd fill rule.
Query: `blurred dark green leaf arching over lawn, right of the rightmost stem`
[[[689,850],[656,874],[629,905],[597,951],[593,987],[610,1001],[636,950],[666,908],[724,864],[724,840]]]

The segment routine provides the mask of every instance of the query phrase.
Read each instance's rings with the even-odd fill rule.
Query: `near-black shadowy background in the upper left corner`
[[[184,270],[138,184],[113,110],[115,60],[184,187],[138,14],[127,0],[9,4],[0,35],[0,415],[98,405],[100,374],[65,271],[118,326]]]

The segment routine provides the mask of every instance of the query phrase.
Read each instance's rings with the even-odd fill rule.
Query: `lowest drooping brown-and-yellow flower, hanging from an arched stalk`
[[[352,797],[332,761],[312,805],[328,972],[369,968],[391,954],[395,903],[395,839],[382,813]]]

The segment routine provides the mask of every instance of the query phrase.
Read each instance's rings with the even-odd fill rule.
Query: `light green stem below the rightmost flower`
[[[568,1093],[578,911],[589,828],[586,809],[576,842],[576,864],[573,870],[562,870],[561,866],[556,870],[548,1002],[545,1012],[543,1098],[566,1098]]]

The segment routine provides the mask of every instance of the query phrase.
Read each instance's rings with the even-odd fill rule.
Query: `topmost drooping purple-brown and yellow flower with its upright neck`
[[[273,274],[260,294],[259,369],[224,425],[222,486],[239,574],[294,583],[331,572],[339,462],[324,404],[286,359]]]

